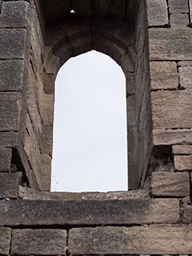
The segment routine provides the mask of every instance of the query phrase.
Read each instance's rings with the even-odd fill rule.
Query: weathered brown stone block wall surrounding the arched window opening
[[[192,254],[192,2],[0,6],[0,254]],[[130,187],[138,189],[39,191],[50,189],[54,79],[92,49],[126,76]]]

